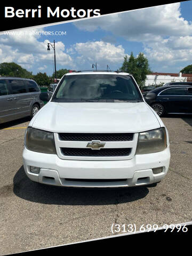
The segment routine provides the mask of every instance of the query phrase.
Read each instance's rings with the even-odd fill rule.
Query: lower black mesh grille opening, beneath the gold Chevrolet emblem
[[[93,150],[91,148],[61,148],[64,156],[129,156],[131,148],[101,148]]]

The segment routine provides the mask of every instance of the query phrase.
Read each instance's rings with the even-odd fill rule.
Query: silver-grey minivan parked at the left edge
[[[34,80],[0,77],[0,124],[26,116],[33,117],[44,106]]]

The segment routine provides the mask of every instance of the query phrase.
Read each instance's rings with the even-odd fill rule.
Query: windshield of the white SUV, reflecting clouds
[[[68,75],[56,90],[53,101],[141,100],[137,86],[125,75]]]

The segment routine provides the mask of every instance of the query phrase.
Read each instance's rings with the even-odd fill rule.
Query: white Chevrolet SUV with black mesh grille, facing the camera
[[[132,187],[161,181],[169,136],[132,75],[68,73],[31,119],[23,163],[29,179],[63,187]]]

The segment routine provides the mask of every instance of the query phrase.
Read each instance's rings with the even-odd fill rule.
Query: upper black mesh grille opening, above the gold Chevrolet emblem
[[[130,141],[133,133],[59,133],[59,138],[66,141]]]

